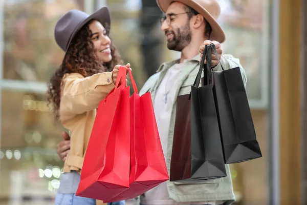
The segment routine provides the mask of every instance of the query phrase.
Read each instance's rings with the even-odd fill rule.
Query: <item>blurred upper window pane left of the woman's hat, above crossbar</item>
[[[63,57],[54,27],[71,9],[82,10],[83,1],[4,1],[4,78],[49,80]]]

